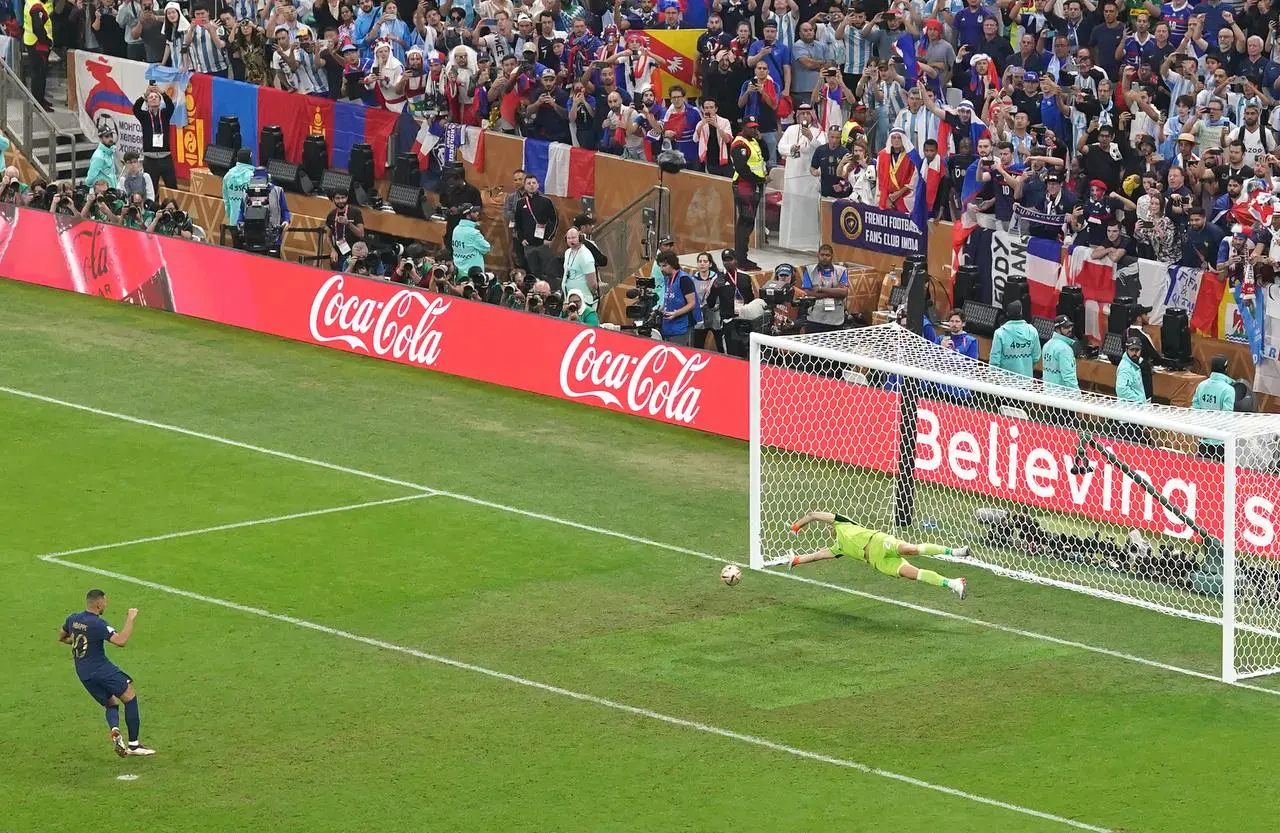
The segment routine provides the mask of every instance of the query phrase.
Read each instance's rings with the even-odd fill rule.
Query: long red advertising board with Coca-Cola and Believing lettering
[[[0,206],[0,275],[710,434],[748,436],[748,363],[741,360],[384,280],[10,206]],[[768,385],[794,388],[790,372],[769,370]],[[762,429],[767,443],[870,471],[892,468],[896,450],[887,439],[896,436],[896,394],[815,377],[805,379],[805,394],[829,401],[827,412],[860,413],[859,421],[823,425],[819,434],[786,418],[769,420]],[[1006,417],[923,399],[920,415],[916,473],[924,481],[1108,522],[1116,520],[1119,499],[1128,523],[1185,534],[1176,518],[1105,468],[1096,479],[1073,475],[1074,431],[1023,424],[1021,450],[1014,453]],[[1220,464],[1153,447],[1120,450],[1188,514],[1210,530],[1221,527],[1213,511],[1213,495],[1222,489]],[[1242,472],[1240,489],[1248,498],[1240,505],[1242,544],[1271,546],[1280,479]]]

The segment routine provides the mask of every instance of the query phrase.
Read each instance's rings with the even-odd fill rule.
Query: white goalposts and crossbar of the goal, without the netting
[[[905,338],[919,338],[914,335],[906,335],[908,330],[896,325],[886,324],[879,325],[883,328],[893,328],[901,330]],[[836,362],[845,366],[856,367],[860,372],[861,369],[870,369],[886,374],[896,374],[900,376],[910,376],[919,381],[933,383],[938,385],[956,385],[963,384],[968,390],[975,393],[983,393],[998,398],[1016,398],[1025,403],[1039,404],[1048,408],[1064,408],[1069,407],[1080,413],[1088,413],[1094,417],[1110,418],[1110,420],[1126,420],[1137,425],[1142,425],[1148,429],[1174,431],[1174,432],[1187,432],[1188,427],[1185,424],[1175,418],[1172,413],[1166,412],[1162,408],[1152,407],[1125,407],[1117,404],[1116,407],[1108,406],[1105,401],[1100,401],[1097,397],[1080,395],[1079,398],[1073,397],[1068,393],[1064,395],[1051,395],[1044,390],[1039,389],[1042,383],[1038,380],[1032,380],[1021,377],[1025,380],[1024,384],[1018,385],[997,385],[992,384],[984,379],[957,379],[956,376],[948,375],[946,372],[940,372],[931,367],[918,367],[906,366],[899,362],[887,361],[882,357],[867,356],[861,353],[846,353],[838,349],[826,347],[823,344],[814,344],[803,340],[804,337],[776,337],[765,335],[762,333],[753,333],[750,337],[750,351],[749,351],[749,466],[750,466],[750,499],[749,499],[749,566],[751,569],[764,569],[764,550],[762,540],[763,528],[763,513],[762,513],[762,486],[763,486],[763,473],[762,473],[762,351],[764,348],[773,348],[777,351],[801,353],[810,356],[813,358],[826,360]],[[1064,389],[1068,392],[1068,389]],[[1119,402],[1119,401],[1117,401]],[[1276,429],[1272,429],[1276,430]],[[1280,673],[1280,668],[1265,668],[1261,670],[1242,672],[1235,667],[1236,660],[1236,463],[1238,463],[1238,440],[1242,436],[1249,436],[1253,434],[1263,434],[1263,430],[1257,431],[1228,431],[1221,429],[1213,429],[1210,426],[1197,426],[1196,434],[1203,439],[1220,440],[1224,447],[1222,458],[1222,614],[1221,617],[1213,615],[1189,615],[1185,612],[1178,612],[1169,608],[1161,608],[1151,603],[1144,603],[1140,599],[1134,599],[1132,596],[1125,596],[1121,594],[1111,594],[1102,591],[1087,585],[1079,585],[1065,581],[1050,580],[1044,583],[1057,586],[1066,590],[1073,590],[1075,592],[1082,592],[1085,595],[1092,595],[1096,598],[1107,598],[1110,600],[1121,601],[1124,604],[1130,604],[1139,608],[1152,609],[1156,612],[1183,615],[1192,619],[1198,619],[1202,622],[1208,622],[1211,624],[1220,624],[1221,627],[1221,650],[1222,650],[1222,665],[1221,665],[1221,679],[1224,682],[1234,683],[1239,679],[1249,677],[1261,677],[1266,674]],[[910,470],[914,471],[914,467]],[[997,571],[998,575],[998,571]],[[1007,575],[1007,573],[1006,573]],[[1253,630],[1253,628],[1251,628]]]

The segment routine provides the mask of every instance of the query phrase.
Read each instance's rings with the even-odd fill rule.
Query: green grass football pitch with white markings
[[[1280,697],[1137,662],[1213,673],[1210,626],[847,559],[805,576],[879,599],[730,589],[589,528],[745,560],[739,443],[4,282],[0,357],[8,388],[580,525],[0,393],[0,830],[1276,828]],[[155,758],[111,754],[55,642],[91,586],[141,610],[110,654]]]

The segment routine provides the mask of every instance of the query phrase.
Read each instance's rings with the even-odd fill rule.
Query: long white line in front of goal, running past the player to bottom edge
[[[963,798],[965,801],[983,804],[989,807],[998,807],[1001,810],[1007,810],[1010,813],[1018,813],[1021,815],[1043,819],[1046,821],[1053,821],[1056,824],[1073,827],[1079,830],[1093,830],[1094,833],[1111,833],[1108,828],[1097,827],[1093,824],[1085,824],[1084,821],[1076,821],[1075,819],[1068,819],[1065,816],[1053,815],[1052,813],[1043,813],[1041,810],[1023,807],[1020,805],[1009,804],[1007,801],[1000,801],[997,798],[988,798],[986,796],[965,792],[964,789],[956,789],[955,787],[945,787],[942,784],[934,784],[928,781],[913,778],[911,775],[902,775],[886,769],[879,769],[877,766],[870,766],[868,764],[860,764],[855,760],[849,760],[845,758],[833,758],[831,755],[823,755],[820,752],[810,752],[808,750],[797,749],[795,746],[787,746],[786,743],[778,743],[777,741],[771,741],[768,738],[763,738],[755,734],[744,734],[742,732],[733,732],[732,729],[722,729],[719,727],[710,726],[708,723],[699,723],[698,720],[687,720],[685,718],[677,718],[669,714],[662,714],[660,711],[641,709],[639,706],[627,705],[626,702],[618,702],[617,700],[609,700],[608,697],[598,697],[595,695],[582,694],[581,691],[572,691],[570,688],[562,688],[559,686],[539,682],[536,679],[529,679],[526,677],[517,677],[516,674],[508,674],[506,672],[494,670],[492,668],[485,668],[484,665],[476,665],[474,663],[466,663],[458,659],[440,656],[439,654],[429,654],[426,651],[420,651],[415,647],[407,647],[404,645],[397,645],[394,642],[385,642],[383,640],[378,640],[370,636],[361,636],[360,633],[352,633],[349,631],[340,631],[338,628],[332,628],[325,624],[316,624],[315,622],[307,622],[306,619],[298,619],[296,617],[284,615],[283,613],[271,613],[270,610],[264,610],[261,608],[252,608],[248,605],[238,604],[236,601],[228,601],[225,599],[215,599],[214,596],[205,596],[198,592],[192,592],[189,590],[170,587],[168,585],[161,585],[154,581],[146,581],[143,578],[136,578],[133,576],[113,572],[110,569],[101,569],[99,567],[90,567],[88,564],[79,564],[76,562],[65,560],[58,555],[44,555],[42,560],[50,564],[59,564],[61,567],[70,567],[72,569],[79,569],[88,573],[95,573],[99,576],[104,576],[106,578],[113,578],[115,581],[138,585],[142,587],[147,587],[150,590],[156,590],[159,592],[166,592],[174,596],[182,596],[184,599],[191,599],[192,601],[202,601],[205,604],[218,605],[220,608],[229,608],[232,610],[248,613],[252,615],[262,617],[265,619],[274,619],[275,622],[293,624],[296,627],[306,628],[308,631],[316,631],[319,633],[326,633],[329,636],[337,636],[339,639],[351,640],[352,642],[360,642],[362,645],[381,649],[384,651],[396,651],[398,654],[407,654],[410,656],[415,656],[417,659],[422,659],[429,663],[438,663],[440,665],[447,665],[457,670],[468,670],[475,674],[484,674],[485,677],[502,679],[504,682],[515,683],[517,686],[525,686],[526,688],[544,691],[547,694],[558,695],[561,697],[568,697],[571,700],[577,700],[580,702],[590,702],[598,706],[604,706],[605,709],[614,709],[617,711],[623,711],[626,714],[631,714],[635,717],[648,718],[650,720],[658,720],[660,723],[678,726],[698,732],[705,732],[707,734],[714,734],[717,737],[737,741],[740,743],[749,743],[751,746],[758,746],[774,752],[782,752],[785,755],[792,755],[795,758],[800,758],[804,760],[819,764],[828,764],[831,766],[842,766],[845,769],[854,769],[860,773],[865,773],[868,775],[877,775],[879,778],[897,781],[900,783],[911,784],[913,787],[919,787],[922,789],[929,789],[933,792],[940,792],[946,796],[952,796],[955,798]]]

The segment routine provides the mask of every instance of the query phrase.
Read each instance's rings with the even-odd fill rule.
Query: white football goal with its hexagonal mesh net
[[[791,534],[804,513],[844,513],[970,546],[966,564],[1001,576],[1220,626],[1224,679],[1274,673],[1277,425],[1047,385],[893,324],[753,335],[751,567],[823,545]]]

